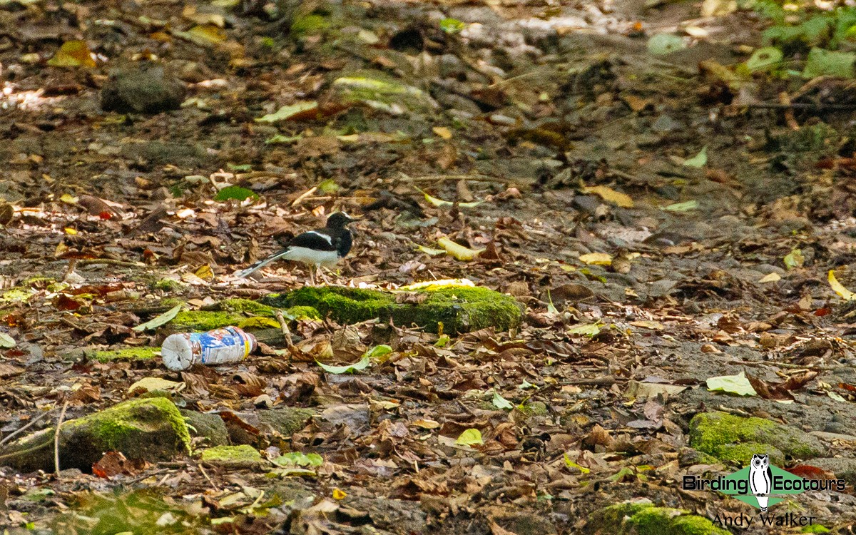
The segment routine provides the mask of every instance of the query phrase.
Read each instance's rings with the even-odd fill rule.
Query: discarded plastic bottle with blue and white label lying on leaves
[[[255,336],[237,327],[167,336],[161,346],[163,366],[173,372],[194,364],[217,366],[240,362],[256,348]]]

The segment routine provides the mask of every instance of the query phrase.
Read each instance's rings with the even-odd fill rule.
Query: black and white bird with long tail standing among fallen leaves
[[[239,271],[236,275],[243,278],[276,260],[293,260],[312,266],[313,269],[310,273],[312,285],[314,285],[316,270],[322,266],[332,268],[350,252],[351,246],[354,245],[354,236],[348,230],[348,223],[353,221],[354,219],[343,211],[330,214],[324,229],[310,230],[294,236],[282,251],[259,260],[246,270]],[[321,272],[321,276],[324,278],[324,282],[329,283],[324,272]]]

